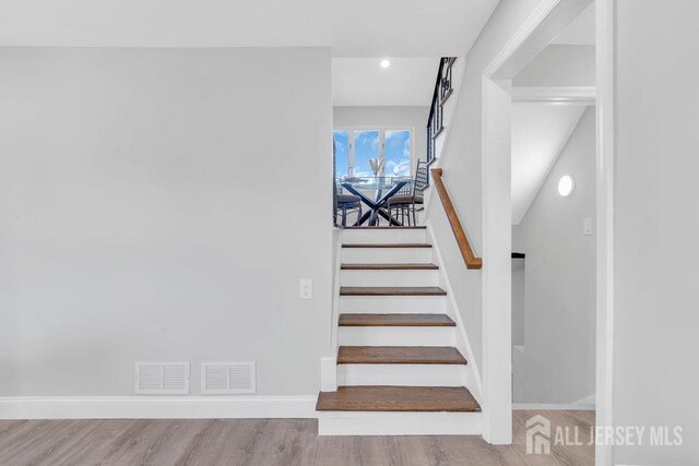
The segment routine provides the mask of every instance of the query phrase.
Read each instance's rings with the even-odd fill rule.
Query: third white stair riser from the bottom
[[[455,327],[341,326],[344,346],[454,346]]]

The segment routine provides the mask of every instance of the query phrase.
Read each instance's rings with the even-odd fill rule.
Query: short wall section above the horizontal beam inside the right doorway
[[[549,45],[514,76],[512,86],[594,86],[594,46]]]

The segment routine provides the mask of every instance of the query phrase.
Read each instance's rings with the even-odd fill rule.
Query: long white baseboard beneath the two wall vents
[[[316,396],[0,397],[0,419],[316,418]]]

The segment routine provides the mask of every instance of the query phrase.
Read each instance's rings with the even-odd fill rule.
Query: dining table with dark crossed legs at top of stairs
[[[379,224],[379,217],[388,220],[389,225],[402,226],[403,224],[391,215],[386,205],[392,195],[411,181],[412,178],[410,177],[369,176],[343,178],[340,184],[352,194],[359,196],[362,202],[369,207],[357,218],[354,226],[368,224],[375,227]],[[367,195],[366,192],[374,192],[374,199]]]

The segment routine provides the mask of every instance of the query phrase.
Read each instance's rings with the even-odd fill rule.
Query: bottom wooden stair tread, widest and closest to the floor
[[[478,413],[481,406],[463,386],[339,386],[319,393],[316,410]]]

